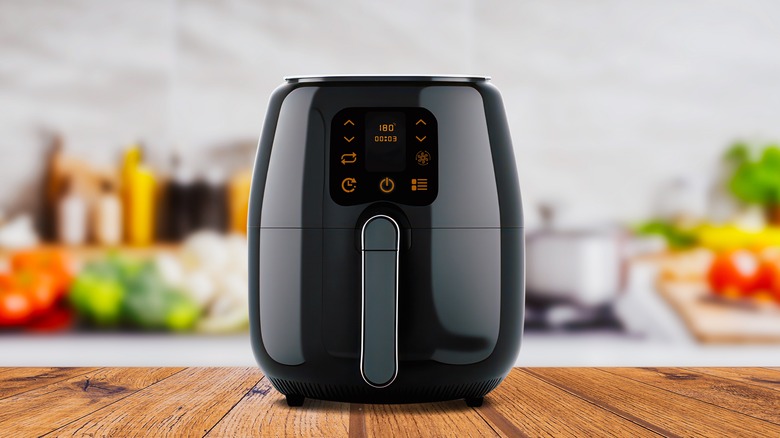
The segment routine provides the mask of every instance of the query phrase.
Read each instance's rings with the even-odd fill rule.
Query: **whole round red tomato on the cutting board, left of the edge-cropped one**
[[[715,293],[729,297],[747,296],[759,290],[769,290],[774,281],[774,268],[748,250],[720,253],[710,266],[710,287]]]

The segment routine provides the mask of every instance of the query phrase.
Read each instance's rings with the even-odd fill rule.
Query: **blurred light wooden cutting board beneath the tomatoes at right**
[[[659,280],[658,290],[699,342],[780,343],[780,306],[713,297],[704,282]]]

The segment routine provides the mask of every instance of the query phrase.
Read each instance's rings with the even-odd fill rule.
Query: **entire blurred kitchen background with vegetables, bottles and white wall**
[[[253,365],[246,199],[285,75],[486,74],[519,365],[780,364],[780,3],[0,1],[0,365]]]

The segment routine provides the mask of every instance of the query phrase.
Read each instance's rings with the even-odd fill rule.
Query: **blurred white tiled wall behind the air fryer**
[[[527,207],[635,219],[733,139],[780,139],[778,23],[758,0],[6,0],[0,208],[32,202],[44,131],[161,162],[255,139],[284,75],[423,72],[493,76]]]

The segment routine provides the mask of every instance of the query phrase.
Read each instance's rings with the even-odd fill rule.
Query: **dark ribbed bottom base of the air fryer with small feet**
[[[466,399],[469,406],[495,389],[503,378],[451,385],[428,384],[376,390],[367,385],[329,385],[270,378],[277,391],[287,396],[291,406],[301,397],[346,403],[405,404]]]

